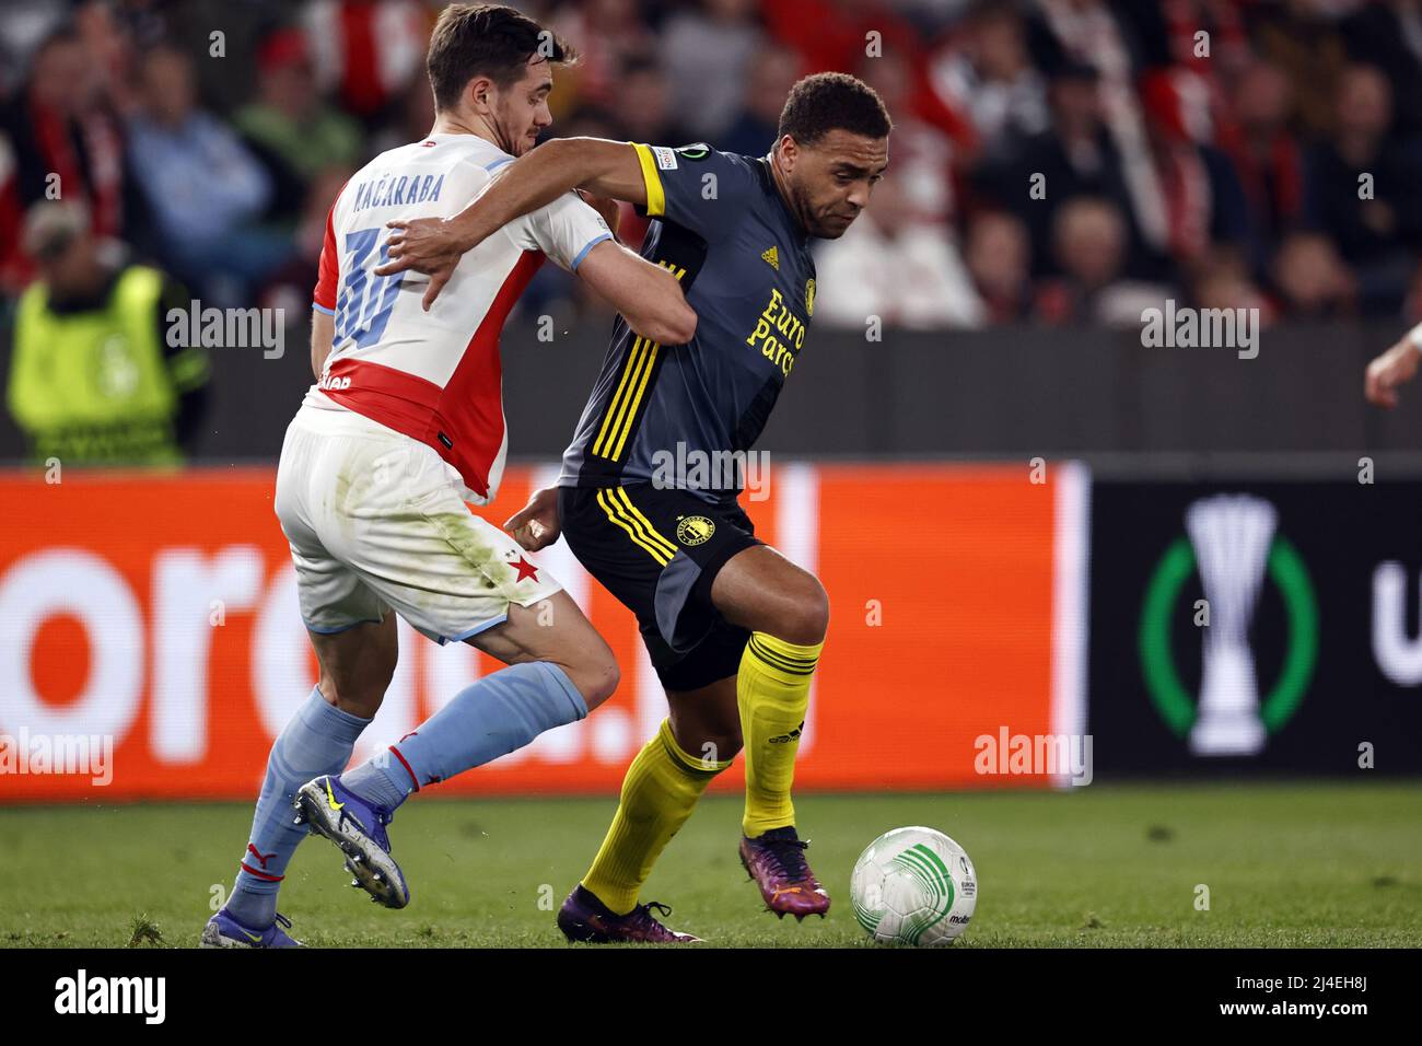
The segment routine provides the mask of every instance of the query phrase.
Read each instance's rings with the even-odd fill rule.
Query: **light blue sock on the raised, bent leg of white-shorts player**
[[[394,810],[425,784],[483,766],[584,716],[583,694],[563,669],[549,662],[510,665],[466,686],[388,751],[343,774],[341,784]]]

